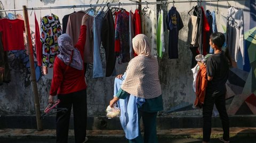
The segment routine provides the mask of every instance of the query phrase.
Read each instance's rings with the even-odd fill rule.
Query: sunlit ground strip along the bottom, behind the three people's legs
[[[142,132],[143,133],[143,132]],[[202,128],[158,130],[159,143],[199,143],[202,142]],[[88,130],[89,143],[127,142],[122,130]],[[219,142],[221,128],[212,128],[211,143]],[[256,143],[256,128],[230,128],[230,142]],[[36,129],[0,129],[1,143],[45,143],[55,142],[55,130],[37,131]],[[74,142],[74,130],[69,132],[69,142]]]

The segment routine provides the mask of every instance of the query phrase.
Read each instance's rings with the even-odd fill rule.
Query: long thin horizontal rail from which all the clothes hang
[[[205,0],[205,1],[161,1],[161,2],[141,2],[139,4],[141,5],[147,5],[147,4],[170,4],[170,3],[205,3],[205,2],[228,2],[228,1],[244,1],[244,0]],[[136,3],[109,3],[108,6],[117,6],[117,5],[138,5],[138,2]],[[98,6],[107,6],[107,4],[87,4],[87,5],[66,5],[66,6],[42,6],[42,7],[27,7],[27,10],[49,10],[49,9],[72,9],[72,8],[82,8],[82,7],[98,7]],[[6,11],[22,11],[23,9],[10,9],[10,10],[0,10],[0,12],[6,12]]]

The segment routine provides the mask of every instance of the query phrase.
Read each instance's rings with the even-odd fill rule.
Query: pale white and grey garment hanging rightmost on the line
[[[233,60],[237,62],[239,51],[244,62],[244,14],[243,10],[237,10],[235,7],[228,9],[227,16],[227,47]]]

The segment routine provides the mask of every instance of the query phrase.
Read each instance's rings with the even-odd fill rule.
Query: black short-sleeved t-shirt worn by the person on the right
[[[207,75],[213,77],[208,81],[206,92],[212,95],[224,94],[226,92],[226,82],[228,80],[229,65],[224,52],[213,54],[207,60]]]

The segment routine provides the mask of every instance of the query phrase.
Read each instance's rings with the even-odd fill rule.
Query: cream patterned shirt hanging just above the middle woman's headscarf
[[[157,57],[156,23],[156,13],[152,9],[148,9],[145,14],[142,14],[142,33],[149,38],[151,55],[155,57]]]

